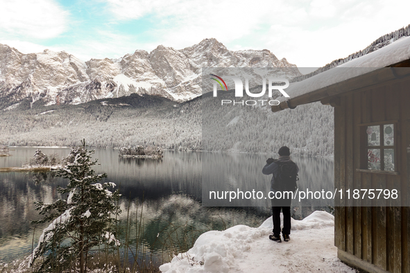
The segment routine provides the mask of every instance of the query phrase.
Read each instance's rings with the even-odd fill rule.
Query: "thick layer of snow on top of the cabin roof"
[[[316,91],[323,87],[328,87],[409,59],[410,37],[402,37],[388,44],[388,46],[384,46],[382,49],[341,64],[339,67],[334,67],[300,82],[292,82],[285,91],[289,94],[291,100],[292,98],[309,94],[311,91]],[[285,98],[282,97],[279,100],[284,101]]]

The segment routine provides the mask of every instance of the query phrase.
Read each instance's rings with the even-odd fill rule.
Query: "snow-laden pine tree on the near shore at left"
[[[75,266],[83,273],[92,247],[104,243],[119,245],[114,232],[115,216],[120,213],[116,205],[119,191],[108,190],[115,186],[112,182],[99,183],[107,175],[94,173],[94,151],[85,148],[84,140],[82,144],[71,150],[67,166],[58,170],[58,176],[69,179],[67,187],[58,191],[68,196],[51,204],[35,203],[45,217],[34,223],[51,222],[43,230],[28,263],[32,266],[36,258],[45,254],[38,272],[61,272]]]

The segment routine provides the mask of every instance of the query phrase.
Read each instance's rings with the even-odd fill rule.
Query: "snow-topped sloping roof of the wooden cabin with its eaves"
[[[410,37],[402,37],[382,49],[368,53],[300,82],[292,82],[285,90],[290,98],[281,97],[272,112],[330,98],[385,80],[410,76]],[[393,68],[394,67],[394,68]],[[407,68],[402,68],[407,67]]]

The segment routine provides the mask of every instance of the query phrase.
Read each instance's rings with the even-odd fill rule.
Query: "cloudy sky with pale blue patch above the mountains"
[[[321,67],[407,26],[409,10],[408,0],[0,0],[0,43],[89,60],[214,37],[230,50]]]

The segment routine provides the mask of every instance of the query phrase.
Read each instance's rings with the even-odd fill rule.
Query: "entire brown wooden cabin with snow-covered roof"
[[[368,272],[410,273],[409,67],[410,37],[404,37],[291,83],[291,98],[272,107],[278,112],[318,101],[331,105],[335,188],[398,190],[396,200],[335,202],[338,257]]]

